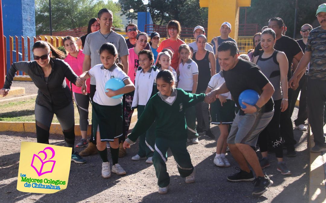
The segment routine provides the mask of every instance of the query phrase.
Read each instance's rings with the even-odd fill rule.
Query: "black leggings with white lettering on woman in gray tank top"
[[[283,141],[279,133],[281,102],[282,99],[274,100],[274,116],[258,137],[260,151],[267,152],[268,142],[271,142],[277,158],[283,158]]]

